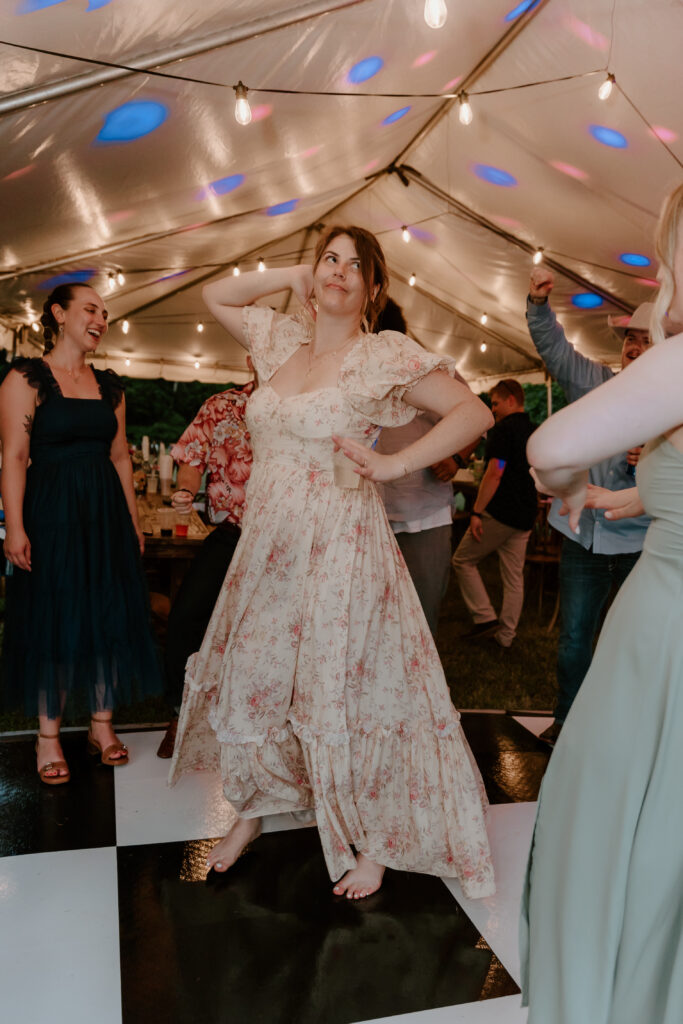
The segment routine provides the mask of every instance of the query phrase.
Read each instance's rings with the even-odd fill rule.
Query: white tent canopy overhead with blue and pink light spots
[[[2,343],[39,344],[50,284],[76,278],[110,308],[100,365],[240,380],[201,284],[310,259],[341,222],[380,237],[411,333],[475,387],[543,379],[537,247],[570,339],[614,362],[607,314],[653,297],[653,227],[682,176],[683,4],[446,6],[434,30],[424,0],[4,0]]]

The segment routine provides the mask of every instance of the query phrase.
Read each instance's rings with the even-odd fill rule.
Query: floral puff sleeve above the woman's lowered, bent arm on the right
[[[430,352],[397,331],[382,331],[364,337],[342,367],[339,384],[353,408],[373,423],[399,427],[418,412],[403,395],[432,370],[445,370],[463,381],[451,356]]]

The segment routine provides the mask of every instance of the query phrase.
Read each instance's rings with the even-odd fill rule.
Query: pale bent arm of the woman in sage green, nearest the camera
[[[677,335],[560,410],[531,434],[526,452],[540,488],[568,504],[572,527],[584,506],[590,466],[680,427],[681,374],[683,335]]]

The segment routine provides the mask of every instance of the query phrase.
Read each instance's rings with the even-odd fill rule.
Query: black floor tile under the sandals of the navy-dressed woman
[[[62,733],[71,781],[45,785],[35,739],[0,743],[0,856],[116,845],[114,772],[85,751],[86,734]]]

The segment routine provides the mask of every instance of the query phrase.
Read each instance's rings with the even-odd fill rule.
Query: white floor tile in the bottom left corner
[[[121,1024],[116,850],[0,860],[5,1021]]]

